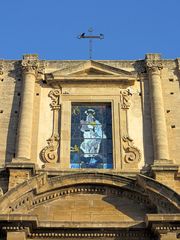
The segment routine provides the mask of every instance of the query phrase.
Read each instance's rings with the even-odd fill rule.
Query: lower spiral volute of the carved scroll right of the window
[[[133,139],[129,136],[123,136],[123,149],[125,151],[124,161],[126,163],[139,162],[141,159],[140,150],[134,146]]]

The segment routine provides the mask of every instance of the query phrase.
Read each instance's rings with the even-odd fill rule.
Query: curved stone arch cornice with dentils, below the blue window
[[[0,199],[0,209],[4,214],[25,206],[28,210],[66,194],[80,192],[102,194],[103,191],[106,192],[104,189],[107,187],[112,190],[112,194],[142,202],[150,208],[155,203],[156,206],[160,204],[161,209],[167,213],[179,210],[177,199],[170,199],[166,192],[156,191],[154,196],[155,186],[147,192],[136,180],[102,173],[76,173],[52,178],[48,178],[46,174],[35,176],[7,192]],[[164,186],[161,184],[161,187]],[[153,202],[152,199],[155,197],[158,201]]]

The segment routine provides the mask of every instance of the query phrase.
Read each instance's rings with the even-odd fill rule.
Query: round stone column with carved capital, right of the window
[[[151,117],[153,128],[154,159],[168,160],[168,136],[164,112],[164,101],[161,86],[161,69],[163,68],[159,54],[147,54],[146,66],[149,75],[151,98]]]

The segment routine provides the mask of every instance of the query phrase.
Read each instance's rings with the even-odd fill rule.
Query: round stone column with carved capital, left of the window
[[[37,77],[37,55],[24,55],[22,60],[23,91],[19,118],[16,159],[31,159],[34,88]]]

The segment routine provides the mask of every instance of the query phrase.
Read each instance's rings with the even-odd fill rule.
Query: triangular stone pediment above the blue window
[[[96,61],[86,61],[72,68],[65,68],[46,74],[47,83],[51,84],[128,84],[137,79],[134,72],[108,66]],[[89,82],[90,81],[90,82]]]

